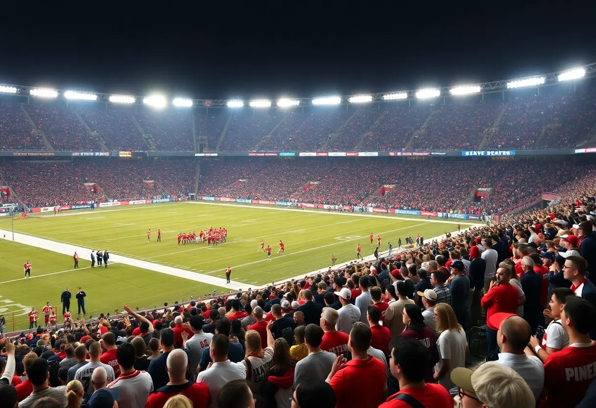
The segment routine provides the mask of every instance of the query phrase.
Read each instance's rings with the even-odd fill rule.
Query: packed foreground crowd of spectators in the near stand
[[[550,208],[374,262],[21,333],[3,344],[0,398],[21,408],[594,406],[594,174],[561,186]]]

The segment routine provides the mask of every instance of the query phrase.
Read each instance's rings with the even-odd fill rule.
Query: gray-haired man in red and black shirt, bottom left
[[[174,395],[182,394],[193,403],[193,408],[206,408],[211,405],[212,395],[207,384],[195,383],[186,379],[188,357],[184,350],[170,351],[166,360],[167,375],[170,381],[149,395],[145,408],[162,408],[166,401]]]

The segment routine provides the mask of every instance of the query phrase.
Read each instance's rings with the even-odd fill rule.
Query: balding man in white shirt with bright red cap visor
[[[524,353],[532,335],[530,324],[513,313],[492,314],[491,324],[499,327],[496,342],[501,348],[501,353],[496,362],[512,368],[522,376],[538,401],[544,388],[544,366],[540,358],[533,354],[529,357]]]

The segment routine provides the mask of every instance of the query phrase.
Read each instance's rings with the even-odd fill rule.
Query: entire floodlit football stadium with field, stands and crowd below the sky
[[[460,84],[0,84],[0,405],[595,406],[596,63]]]

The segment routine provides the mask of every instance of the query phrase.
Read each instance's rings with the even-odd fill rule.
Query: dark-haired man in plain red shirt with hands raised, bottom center
[[[336,393],[338,407],[377,408],[387,397],[387,368],[383,361],[367,353],[371,337],[370,327],[354,323],[347,343],[352,360],[346,363],[339,356],[333,363],[327,382]]]

